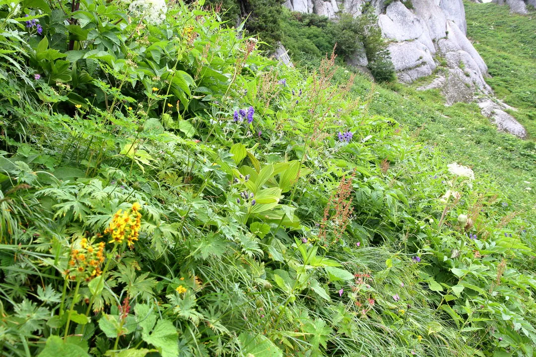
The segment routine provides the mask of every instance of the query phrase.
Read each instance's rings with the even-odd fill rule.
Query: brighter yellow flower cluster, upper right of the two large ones
[[[139,229],[142,226],[140,208],[140,204],[136,202],[132,204],[132,208],[129,211],[120,209],[115,212],[110,225],[104,231],[105,234],[110,234],[111,236],[109,243],[121,244],[126,239],[127,245],[132,249],[134,241],[138,240]]]

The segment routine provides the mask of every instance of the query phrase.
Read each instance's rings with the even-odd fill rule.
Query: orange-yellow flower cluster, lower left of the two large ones
[[[86,238],[80,241],[80,249],[71,250],[69,267],[65,270],[65,276],[71,280],[83,278],[89,282],[94,277],[102,274],[101,266],[105,260],[105,243],[91,245]]]

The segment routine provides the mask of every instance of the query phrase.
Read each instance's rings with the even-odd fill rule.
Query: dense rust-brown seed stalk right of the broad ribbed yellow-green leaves
[[[325,242],[327,236],[327,230],[332,227],[333,229],[333,241],[338,242],[339,239],[343,236],[346,226],[350,222],[350,216],[354,208],[352,207],[352,181],[355,176],[355,170],[347,178],[343,176],[343,179],[340,181],[337,191],[331,196],[327,206],[324,209],[324,217],[322,218],[322,223],[320,224],[320,230],[318,232],[318,239],[322,242]],[[332,212],[330,214],[330,211]],[[327,226],[328,222],[332,224],[330,227]],[[324,246],[327,246],[324,243]]]

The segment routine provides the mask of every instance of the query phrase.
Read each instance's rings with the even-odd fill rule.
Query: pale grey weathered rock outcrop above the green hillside
[[[536,0],[494,1],[508,4],[512,11],[522,7],[526,11],[525,4],[536,5]],[[500,130],[526,136],[523,126],[503,106],[489,99],[493,91],[485,81],[488,67],[466,37],[462,0],[286,0],[285,6],[293,11],[336,18],[339,12],[359,16],[366,3],[378,15],[382,34],[390,41],[391,60],[399,81],[410,83],[427,77],[441,63],[437,77],[420,89],[440,89],[448,105],[476,100],[483,115],[491,118]],[[356,53],[347,62],[357,67],[367,65],[362,53]]]

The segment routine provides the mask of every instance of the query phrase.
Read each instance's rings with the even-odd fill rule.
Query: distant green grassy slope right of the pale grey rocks
[[[496,4],[465,3],[467,36],[488,65],[486,79],[498,98],[536,138],[536,11],[512,14]]]

